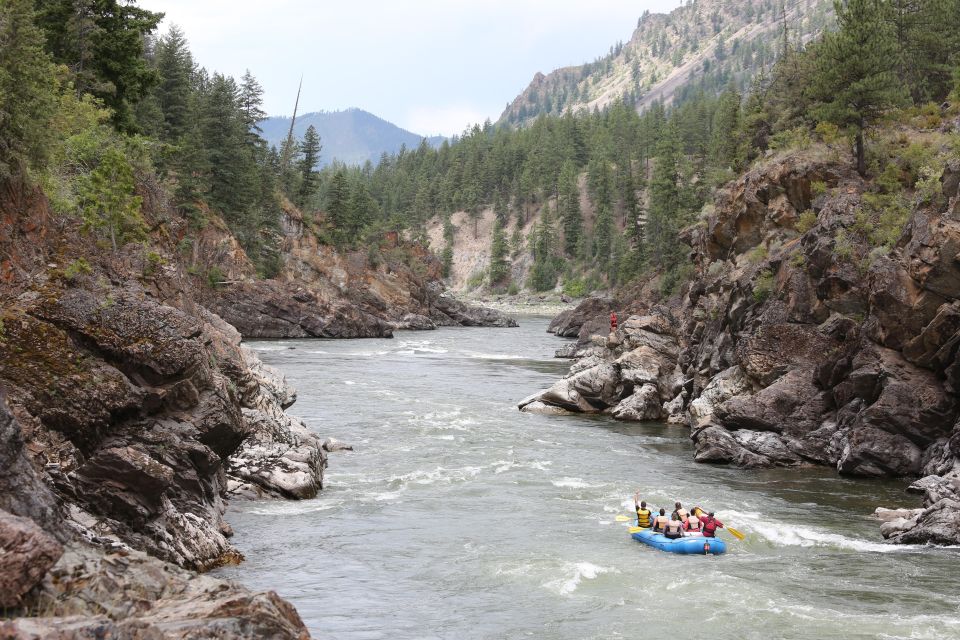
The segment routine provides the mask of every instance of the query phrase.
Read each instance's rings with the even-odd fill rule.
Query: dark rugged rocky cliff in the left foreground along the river
[[[0,197],[0,606],[24,616],[0,637],[306,637],[276,594],[177,569],[242,559],[225,499],[313,496],[326,456],[145,213],[113,252]]]

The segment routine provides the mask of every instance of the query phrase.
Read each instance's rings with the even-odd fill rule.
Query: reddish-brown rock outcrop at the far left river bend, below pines
[[[503,313],[444,293],[440,263],[423,247],[385,241],[382,263],[373,264],[366,250],[322,244],[310,218],[284,212],[283,268],[271,280],[256,278],[226,230],[204,237],[199,257],[225,280],[203,301],[244,337],[389,338],[395,329],[516,326]]]

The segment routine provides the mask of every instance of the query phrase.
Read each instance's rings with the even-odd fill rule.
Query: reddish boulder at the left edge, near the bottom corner
[[[19,606],[61,555],[60,543],[33,520],[0,511],[0,607]]]

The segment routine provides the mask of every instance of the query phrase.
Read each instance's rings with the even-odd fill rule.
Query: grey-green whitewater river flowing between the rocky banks
[[[393,340],[253,342],[292,413],[353,444],[303,502],[236,502],[247,561],[316,638],[960,638],[957,550],[881,544],[903,482],[695,464],[688,430],[516,401],[568,362],[546,318]],[[724,556],[633,541],[633,492],[740,529]]]

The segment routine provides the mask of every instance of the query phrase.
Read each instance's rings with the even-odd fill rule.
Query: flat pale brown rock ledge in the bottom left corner
[[[139,552],[72,544],[29,603],[42,617],[0,622],[0,638],[309,638],[270,591],[184,571]]]

